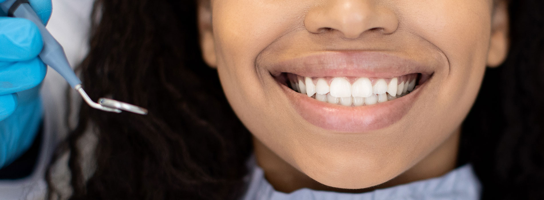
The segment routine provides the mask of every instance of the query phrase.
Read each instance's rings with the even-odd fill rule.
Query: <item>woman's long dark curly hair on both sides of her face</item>
[[[71,199],[224,200],[244,192],[251,135],[202,61],[198,1],[96,1],[83,85],[92,85],[91,98],[150,113],[81,106],[53,158],[71,152]],[[474,166],[483,199],[544,199],[544,1],[512,0],[509,12],[509,56],[485,74],[458,160]],[[89,127],[98,145],[96,172],[85,181],[77,143]],[[51,172],[47,179],[51,185]]]

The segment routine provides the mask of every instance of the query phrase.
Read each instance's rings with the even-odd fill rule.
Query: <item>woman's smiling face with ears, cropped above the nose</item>
[[[453,167],[486,66],[506,54],[505,6],[494,5],[211,0],[200,5],[201,45],[257,153],[360,189],[433,155],[420,173]]]

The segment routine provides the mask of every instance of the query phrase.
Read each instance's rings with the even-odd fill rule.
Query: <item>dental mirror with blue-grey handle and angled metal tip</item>
[[[0,14],[9,17],[26,18],[38,26],[44,41],[44,48],[40,52],[39,57],[45,64],[59,72],[60,76],[66,79],[70,86],[79,92],[83,97],[83,100],[92,108],[117,113],[121,112],[121,110],[125,110],[141,115],[147,114],[147,109],[145,108],[115,101],[114,99],[100,98],[98,99],[98,103],[92,102],[91,98],[89,98],[87,93],[83,90],[81,80],[77,78],[76,73],[73,72],[72,67],[70,67],[63,47],[60,46],[59,42],[47,31],[44,24],[42,24],[40,17],[38,17],[36,12],[30,7],[28,0],[6,0],[3,3],[0,3]]]

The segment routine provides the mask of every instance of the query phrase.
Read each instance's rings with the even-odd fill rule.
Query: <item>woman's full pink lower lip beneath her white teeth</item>
[[[361,133],[391,126],[403,118],[425,84],[392,101],[359,107],[320,102],[286,85],[280,85],[299,115],[314,126],[337,132]]]

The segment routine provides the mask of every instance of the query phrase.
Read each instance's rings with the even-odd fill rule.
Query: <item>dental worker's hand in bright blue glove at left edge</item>
[[[46,24],[51,0],[29,2]],[[27,151],[41,124],[39,90],[47,68],[38,54],[43,45],[33,22],[0,16],[0,168]]]

